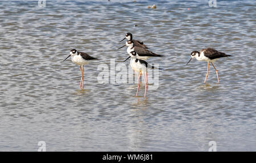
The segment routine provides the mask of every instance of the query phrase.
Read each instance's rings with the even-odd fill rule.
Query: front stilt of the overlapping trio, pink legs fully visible
[[[132,51],[130,53],[130,56],[128,58],[126,58],[126,60],[128,60],[130,57],[131,57],[131,61],[130,61],[131,68],[137,73],[137,78],[138,78],[138,80],[137,80],[138,81],[138,88],[137,88],[136,96],[138,95],[138,91],[139,91],[139,78],[141,77],[141,74],[143,74],[144,83],[145,83],[144,97],[146,98],[146,92],[147,92],[147,68],[154,69],[155,67],[151,66],[146,61],[139,60],[138,59],[138,54],[135,51]]]

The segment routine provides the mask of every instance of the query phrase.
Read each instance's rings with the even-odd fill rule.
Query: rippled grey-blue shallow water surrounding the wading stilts
[[[147,9],[148,5],[156,9]],[[188,9],[189,8],[189,9]],[[256,151],[255,1],[0,2],[0,151]],[[99,83],[99,65],[130,69],[127,32],[164,58],[159,87]],[[233,55],[207,62],[191,51]],[[100,60],[85,66],[71,49]],[[108,70],[107,70],[108,72]],[[115,72],[115,74],[113,74]],[[109,73],[115,77],[118,70]],[[133,73],[130,71],[131,76]],[[150,81],[149,81],[150,82]]]

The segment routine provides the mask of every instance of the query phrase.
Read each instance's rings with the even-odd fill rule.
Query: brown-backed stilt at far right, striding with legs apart
[[[195,58],[195,57],[199,61],[206,61],[206,62],[208,62],[208,64],[207,64],[207,75],[206,75],[205,80],[204,80],[204,83],[205,83],[207,81],[208,72],[209,72],[209,62],[212,64],[213,68],[215,69],[216,74],[217,74],[217,78],[218,78],[218,71],[214,67],[212,62],[217,60],[217,58],[228,57],[228,56],[231,56],[231,55],[225,55],[225,53],[218,52],[215,49],[206,48],[206,49],[201,49],[200,52],[197,52],[197,51],[191,52],[191,58],[187,62],[187,64],[192,60],[192,58]],[[220,81],[218,80],[218,82],[220,82]]]

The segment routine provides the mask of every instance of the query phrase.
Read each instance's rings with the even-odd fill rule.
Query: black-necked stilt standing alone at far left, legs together
[[[72,57],[72,62],[74,62],[77,65],[80,65],[80,72],[81,72],[80,89],[81,88],[84,89],[84,65],[88,64],[90,60],[97,60],[97,58],[91,57],[87,53],[79,52],[76,49],[72,49],[69,53],[70,55],[68,57],[70,56]],[[65,58],[65,60],[67,60],[67,58]]]

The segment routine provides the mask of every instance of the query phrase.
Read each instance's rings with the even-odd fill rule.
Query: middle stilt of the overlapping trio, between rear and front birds
[[[131,56],[131,52],[135,51],[138,54],[137,58],[139,60],[146,60],[149,57],[163,57],[163,55],[157,55],[156,53],[148,51],[147,49],[144,49],[144,48],[141,48],[141,47],[136,47],[134,45],[133,40],[126,41],[126,44],[123,45],[123,47],[125,47],[125,46],[128,47],[127,48],[127,53]]]

